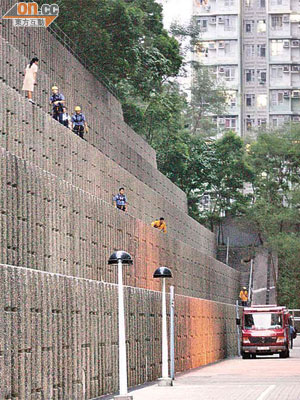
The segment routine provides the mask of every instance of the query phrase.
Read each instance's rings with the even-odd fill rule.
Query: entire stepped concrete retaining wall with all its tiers
[[[13,1],[1,1],[3,15]],[[176,301],[176,371],[236,353],[239,272],[123,121],[118,100],[45,29],[0,33],[0,399],[92,399],[118,390],[114,250],[124,273],[129,385],[161,374],[158,266]],[[23,71],[40,59],[32,106]],[[57,84],[88,119],[87,141],[49,115]],[[88,94],[88,95],[87,95]],[[126,187],[129,212],[112,205]],[[166,235],[150,226],[165,216]]]

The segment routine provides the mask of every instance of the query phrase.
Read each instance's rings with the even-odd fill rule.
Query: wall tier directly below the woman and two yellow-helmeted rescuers
[[[215,254],[214,235],[178,208],[175,196],[163,197],[167,188],[156,192],[7,85],[0,89],[2,147],[109,204],[124,185],[131,215],[148,224],[163,215],[179,239]]]

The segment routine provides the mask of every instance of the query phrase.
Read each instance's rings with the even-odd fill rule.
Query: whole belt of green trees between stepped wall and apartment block
[[[184,51],[163,28],[155,0],[58,4],[59,27],[117,87],[125,121],[155,148],[159,169],[185,191],[190,215],[211,230],[229,214],[254,224],[279,257],[279,301],[299,308],[299,127],[258,132],[250,144],[233,132],[214,140],[216,123],[206,115],[224,110],[225,91],[196,65],[187,101],[173,81],[182,73]],[[174,26],[173,34],[189,37],[194,48],[199,32],[191,24]],[[245,194],[245,182],[253,193]],[[207,194],[209,207],[203,207]]]

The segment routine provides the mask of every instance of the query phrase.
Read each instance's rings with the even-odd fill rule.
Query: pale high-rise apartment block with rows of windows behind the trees
[[[193,0],[195,60],[227,89],[220,129],[300,122],[300,0]]]

